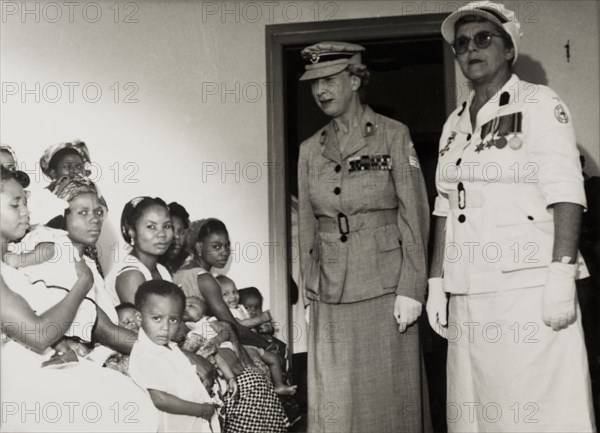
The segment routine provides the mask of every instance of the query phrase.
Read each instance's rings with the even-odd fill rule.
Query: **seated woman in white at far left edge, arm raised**
[[[29,227],[25,173],[0,168],[0,247],[25,235]],[[133,381],[90,362],[67,369],[40,368],[48,349],[72,326],[94,278],[83,261],[71,262],[75,275],[63,298],[41,312],[32,308],[40,293],[20,270],[0,266],[0,349],[2,428],[5,431],[156,431],[157,412]],[[99,313],[102,328],[103,313]]]

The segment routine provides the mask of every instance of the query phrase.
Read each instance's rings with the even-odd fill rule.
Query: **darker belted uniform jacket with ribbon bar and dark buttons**
[[[340,152],[334,121],[300,146],[300,265],[309,299],[424,302],[429,206],[408,128],[365,107]]]

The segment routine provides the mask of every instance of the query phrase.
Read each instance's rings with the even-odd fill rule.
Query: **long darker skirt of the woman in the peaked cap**
[[[311,302],[310,433],[431,431],[418,325],[398,332],[395,296]]]

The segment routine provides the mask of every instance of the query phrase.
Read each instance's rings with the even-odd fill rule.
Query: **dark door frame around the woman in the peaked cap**
[[[290,227],[289,197],[286,188],[286,146],[285,146],[285,76],[283,53],[287,46],[308,46],[326,40],[368,41],[402,37],[441,37],[442,21],[448,16],[442,14],[404,15],[381,18],[360,18],[335,21],[321,21],[293,24],[267,25],[267,139],[268,139],[268,185],[269,185],[269,240],[280,254],[272,257],[270,265],[270,308],[273,317],[281,320],[284,341],[293,353],[290,323],[288,275],[290,263],[287,257],[299,260],[291,254],[288,245]],[[448,44],[443,51],[444,77],[446,81],[446,113],[456,107],[456,76],[454,54]],[[301,290],[302,288],[299,287]],[[300,295],[300,300],[302,296]],[[298,302],[301,302],[301,301]],[[303,320],[301,318],[300,320]]]

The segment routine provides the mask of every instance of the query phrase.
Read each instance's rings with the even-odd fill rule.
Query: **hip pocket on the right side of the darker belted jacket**
[[[396,287],[402,265],[402,241],[397,227],[375,233],[377,241],[377,266],[382,288]]]

